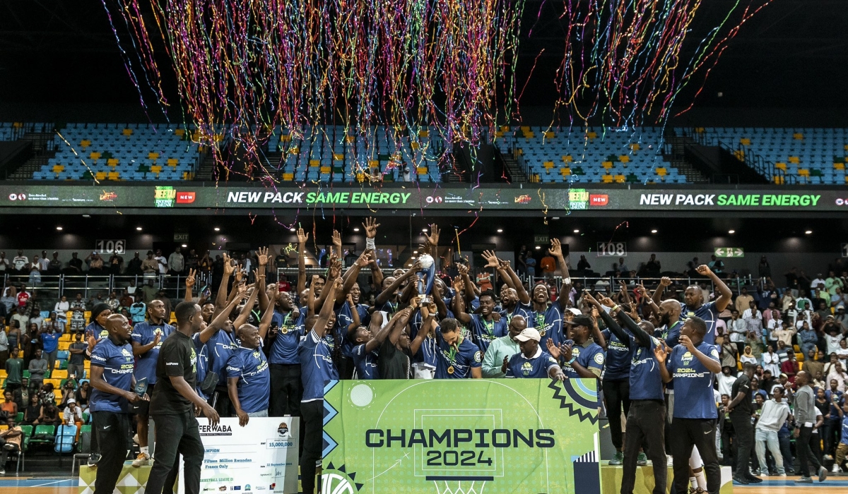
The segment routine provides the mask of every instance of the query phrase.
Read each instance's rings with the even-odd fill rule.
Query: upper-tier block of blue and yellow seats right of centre
[[[687,183],[663,161],[662,129],[501,127],[502,153],[515,149],[531,181],[566,183]]]

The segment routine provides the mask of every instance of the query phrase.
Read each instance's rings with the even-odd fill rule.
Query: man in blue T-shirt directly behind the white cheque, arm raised
[[[260,290],[261,286],[257,287]],[[276,285],[271,285],[270,295],[276,298]],[[236,408],[238,425],[248,425],[250,417],[268,416],[268,390],[271,389],[271,372],[262,352],[262,341],[271,326],[274,307],[265,308],[259,328],[242,325],[237,330],[241,345],[226,363],[226,386],[230,401]]]

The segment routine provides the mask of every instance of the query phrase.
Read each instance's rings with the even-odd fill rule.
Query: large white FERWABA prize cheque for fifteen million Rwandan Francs
[[[198,419],[205,456],[200,471],[201,492],[230,494],[296,494],[300,419],[253,417],[241,427],[238,419],[209,425]],[[179,494],[185,494],[180,463]]]

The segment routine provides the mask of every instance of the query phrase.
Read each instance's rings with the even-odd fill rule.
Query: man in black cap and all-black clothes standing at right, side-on
[[[742,374],[734,381],[734,386],[730,388],[730,396],[734,399],[728,404],[730,422],[734,425],[734,434],[736,435],[734,481],[742,485],[762,482],[758,477],[751,475],[749,466],[750,452],[754,446],[754,425],[750,423],[750,415],[753,413],[750,405],[750,378],[754,376],[755,369],[754,364],[745,363]]]

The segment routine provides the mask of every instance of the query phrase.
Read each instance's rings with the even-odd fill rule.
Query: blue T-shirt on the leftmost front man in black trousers
[[[132,346],[128,342],[118,346],[109,338],[105,338],[98,341],[92,350],[92,366],[103,367],[103,380],[121,390],[133,391],[132,361]],[[106,393],[97,388],[93,388],[88,406],[92,412],[127,414],[130,411],[130,403],[125,397]]]

